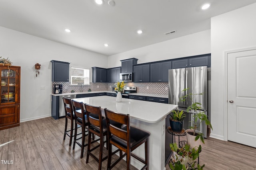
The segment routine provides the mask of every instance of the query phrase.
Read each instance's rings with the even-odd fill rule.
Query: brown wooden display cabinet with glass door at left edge
[[[20,66],[0,65],[0,130],[20,125]]]

